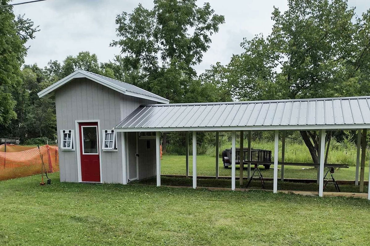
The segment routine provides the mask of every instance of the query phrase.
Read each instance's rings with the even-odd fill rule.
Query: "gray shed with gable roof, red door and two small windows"
[[[61,181],[126,184],[156,175],[155,136],[129,133],[122,146],[121,133],[113,128],[139,105],[169,100],[84,70],[38,96],[55,98]],[[127,161],[122,162],[122,156]]]

